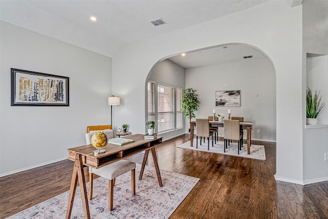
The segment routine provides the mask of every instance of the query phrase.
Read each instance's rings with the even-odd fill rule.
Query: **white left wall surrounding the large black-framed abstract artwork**
[[[1,175],[66,159],[88,125],[110,124],[110,57],[6,22],[0,43]],[[70,106],[10,106],[10,68],[68,76]]]

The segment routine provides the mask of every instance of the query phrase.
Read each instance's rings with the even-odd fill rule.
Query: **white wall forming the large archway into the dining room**
[[[113,90],[125,98],[125,108],[116,114],[117,120],[128,119],[134,132],[145,130],[144,85],[158,61],[228,43],[252,45],[271,59],[277,87],[276,178],[302,183],[302,6],[291,8],[290,1],[271,1],[123,46],[113,57]],[[128,76],[122,80],[121,74]]]

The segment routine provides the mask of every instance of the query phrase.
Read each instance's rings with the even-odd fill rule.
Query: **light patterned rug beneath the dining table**
[[[185,148],[185,149],[206,151],[206,152],[212,152],[212,153],[220,153],[220,154],[226,154],[226,155],[242,156],[242,157],[248,157],[248,158],[253,158],[253,159],[258,159],[258,160],[265,160],[264,145],[251,145],[251,154],[247,154],[247,144],[243,144],[242,146],[243,147],[241,148],[241,151],[239,151],[239,154],[238,154],[237,143],[232,143],[232,144],[230,144],[230,146],[228,146],[228,149],[226,149],[226,153],[224,153],[223,152],[224,142],[218,141],[212,147],[212,140],[210,139],[210,150],[208,150],[207,140],[205,140],[205,143],[202,142],[200,145],[199,138],[198,138],[198,149],[196,149],[196,138],[194,138],[193,147],[190,147],[190,141],[188,141],[182,145],[179,145],[178,148]]]

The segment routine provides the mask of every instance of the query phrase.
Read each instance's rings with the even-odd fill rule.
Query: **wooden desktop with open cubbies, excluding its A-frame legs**
[[[162,138],[157,136],[153,140],[145,140],[143,134],[135,134],[127,136],[129,139],[134,140],[135,142],[129,143],[126,145],[118,146],[113,144],[108,144],[104,150],[105,153],[101,153],[97,156],[93,155],[95,148],[92,145],[85,145],[76,148],[70,148],[68,159],[75,161],[75,155],[81,154],[82,162],[86,166],[93,168],[99,168],[106,166],[108,164],[114,163],[115,161],[121,160],[123,157],[128,157],[134,154],[137,154],[141,151],[145,151],[152,147],[155,147],[162,143]]]

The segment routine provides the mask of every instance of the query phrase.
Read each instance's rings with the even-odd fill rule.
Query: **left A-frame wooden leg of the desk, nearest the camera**
[[[78,180],[78,183],[79,183],[80,189],[81,189],[81,198],[82,198],[84,215],[86,218],[90,219],[86,180],[84,178],[83,162],[82,162],[81,157],[82,157],[81,154],[75,155],[70,195],[68,198],[67,211],[66,211],[66,217],[65,217],[66,219],[69,219],[71,217],[74,196],[75,196],[75,191],[76,191],[76,186],[77,186],[77,180]]]

